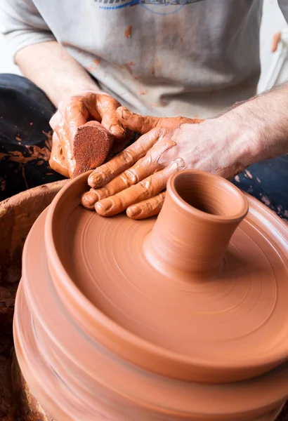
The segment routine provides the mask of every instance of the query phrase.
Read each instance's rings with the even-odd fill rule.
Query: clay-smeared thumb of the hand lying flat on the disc
[[[117,109],[117,117],[124,127],[142,134],[147,133],[156,127],[175,129],[183,123],[195,124],[203,121],[200,119],[188,119],[186,117],[141,116],[140,114],[131,112],[126,107],[119,107]]]

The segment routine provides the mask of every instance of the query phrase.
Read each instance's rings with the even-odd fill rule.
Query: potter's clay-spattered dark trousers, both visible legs
[[[63,177],[51,170],[49,119],[55,107],[34,83],[0,74],[0,201]],[[256,163],[233,183],[288,222],[288,156]]]

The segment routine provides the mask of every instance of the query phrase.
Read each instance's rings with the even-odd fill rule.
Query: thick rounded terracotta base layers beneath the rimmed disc
[[[40,235],[46,216],[45,210],[25,243],[14,340],[27,385],[53,419],[275,419],[287,399],[287,363],[242,382],[181,382],[119,358],[115,342],[114,352],[109,352],[93,340],[90,331],[78,325],[75,314],[67,314],[46,270],[44,237]]]

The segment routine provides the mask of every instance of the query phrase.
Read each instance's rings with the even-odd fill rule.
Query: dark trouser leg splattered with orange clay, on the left
[[[0,74],[0,201],[46,182],[62,180],[51,170],[55,107],[22,76]]]

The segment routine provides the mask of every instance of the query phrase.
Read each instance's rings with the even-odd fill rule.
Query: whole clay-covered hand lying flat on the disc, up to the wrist
[[[126,128],[145,134],[89,175],[92,189],[82,196],[82,204],[95,207],[102,216],[124,210],[134,219],[157,215],[166,182],[176,171],[195,168],[232,178],[242,170],[233,154],[236,147],[241,150],[241,142],[237,135],[230,142],[223,117],[159,119],[138,116],[124,107],[117,114]]]

